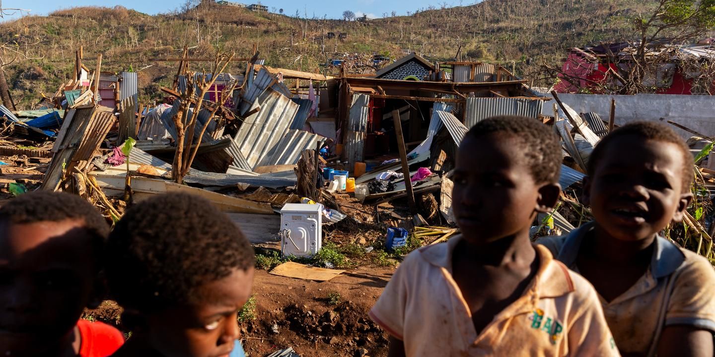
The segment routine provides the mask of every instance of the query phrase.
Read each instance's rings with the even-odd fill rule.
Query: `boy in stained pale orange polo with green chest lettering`
[[[531,243],[559,192],[561,147],[521,116],[486,119],[457,153],[461,235],[410,253],[370,311],[388,356],[618,356],[596,291]]]

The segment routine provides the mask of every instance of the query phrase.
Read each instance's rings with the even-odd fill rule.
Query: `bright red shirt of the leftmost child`
[[[124,335],[106,323],[80,318],[77,328],[82,338],[82,344],[79,345],[80,357],[107,357],[124,344]]]

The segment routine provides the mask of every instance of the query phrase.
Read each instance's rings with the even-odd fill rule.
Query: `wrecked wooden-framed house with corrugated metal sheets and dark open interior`
[[[477,62],[430,64],[417,54],[395,61],[373,77],[348,75],[332,81],[328,81],[328,89],[339,87],[336,128],[348,166],[397,155],[395,114],[410,151],[428,136],[437,104],[447,105],[469,128],[500,114],[536,119],[545,100],[531,92],[526,81],[501,66]]]

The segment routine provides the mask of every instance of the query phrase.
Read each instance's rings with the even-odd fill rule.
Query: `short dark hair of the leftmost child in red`
[[[82,227],[92,237],[94,256],[104,253],[109,235],[109,223],[102,213],[84,198],[65,192],[32,191],[11,199],[0,207],[0,221],[14,224],[36,222],[82,221]]]

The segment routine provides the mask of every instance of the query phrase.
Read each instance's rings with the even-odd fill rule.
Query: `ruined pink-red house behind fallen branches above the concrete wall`
[[[608,52],[613,53],[617,63],[612,63]],[[576,47],[568,52],[563,62],[561,79],[554,89],[559,93],[589,92],[601,94],[602,84],[617,84],[612,73],[618,68],[628,69],[633,66],[631,44],[619,43],[606,46]],[[662,45],[654,46],[649,56],[659,56],[670,53],[668,61],[659,64],[655,73],[649,71],[644,77],[644,84],[656,88],[656,94],[712,94],[715,93],[715,83],[711,88],[706,85],[696,85],[696,78],[701,71],[683,68],[683,59],[712,63],[715,61],[715,46],[698,44],[692,46]]]

